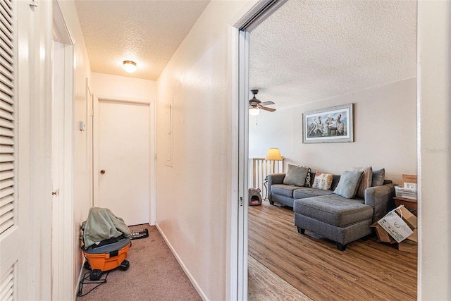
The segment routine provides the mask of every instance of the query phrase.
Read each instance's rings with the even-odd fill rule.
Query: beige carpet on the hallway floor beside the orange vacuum
[[[106,283],[77,300],[202,300],[156,227],[130,227],[137,228],[149,229],[149,237],[132,240],[127,257],[130,268],[111,270]],[[105,276],[106,272],[101,278]],[[94,286],[83,285],[82,293]]]

